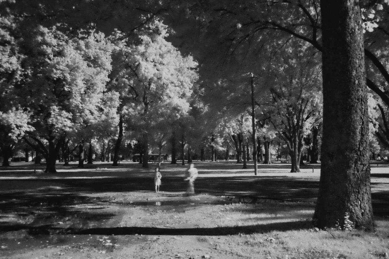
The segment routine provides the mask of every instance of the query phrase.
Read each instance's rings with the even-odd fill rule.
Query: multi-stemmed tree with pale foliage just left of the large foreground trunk
[[[286,47],[277,65],[271,66],[269,80],[273,103],[268,112],[270,121],[289,149],[291,172],[300,172],[303,138],[321,115],[321,67],[303,42],[292,42],[299,51]],[[292,47],[289,46],[289,47]]]

